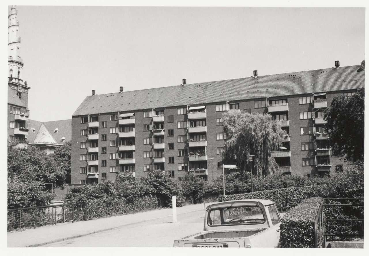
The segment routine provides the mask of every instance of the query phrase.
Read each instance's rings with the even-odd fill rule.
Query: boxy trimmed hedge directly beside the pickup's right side
[[[322,201],[321,197],[304,199],[287,211],[280,224],[280,247],[314,248],[314,221]]]

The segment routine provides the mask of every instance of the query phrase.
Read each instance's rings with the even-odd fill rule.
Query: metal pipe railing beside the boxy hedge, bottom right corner
[[[329,201],[351,201],[352,203],[334,203],[329,204]],[[355,201],[360,200],[362,203],[355,203]],[[327,242],[327,236],[329,237],[363,237],[364,235],[364,219],[327,219],[325,218],[324,214],[324,207],[364,207],[364,198],[363,197],[339,197],[339,198],[324,198],[322,203],[320,204],[320,207],[317,212],[317,216],[315,217],[314,221],[314,247],[320,248],[320,246],[323,246],[323,248],[326,248],[326,242]],[[328,201],[328,203],[327,203]],[[359,228],[359,232],[356,234],[353,233],[347,233],[347,232],[340,232],[340,233],[327,233],[327,222],[362,222],[361,227]],[[329,231],[329,230],[328,230]]]

